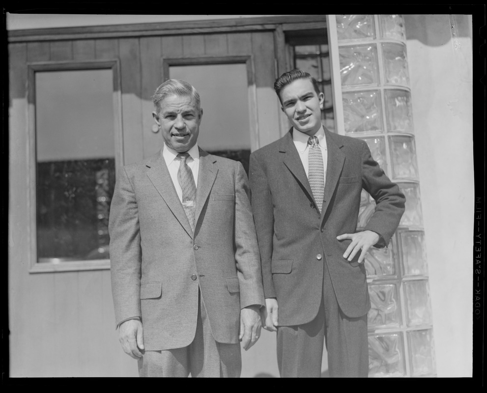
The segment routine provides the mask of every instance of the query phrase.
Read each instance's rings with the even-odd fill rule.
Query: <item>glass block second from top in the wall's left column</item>
[[[375,45],[340,47],[342,86],[377,85],[378,64]]]

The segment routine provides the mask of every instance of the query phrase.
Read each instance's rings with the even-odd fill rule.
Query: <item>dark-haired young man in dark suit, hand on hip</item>
[[[405,199],[365,141],[322,126],[324,96],[310,74],[286,72],[274,89],[292,127],[252,153],[249,175],[265,328],[277,330],[283,377],[319,377],[323,337],[331,377],[366,377],[364,256],[388,244]],[[362,188],[376,209],[356,232]]]

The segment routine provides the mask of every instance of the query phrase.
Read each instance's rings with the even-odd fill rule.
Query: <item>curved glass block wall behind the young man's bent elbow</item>
[[[344,133],[361,138],[399,184],[406,210],[389,247],[366,258],[369,375],[434,376],[428,266],[401,15],[336,15]],[[331,37],[330,37],[331,38]],[[365,192],[359,228],[374,201]]]

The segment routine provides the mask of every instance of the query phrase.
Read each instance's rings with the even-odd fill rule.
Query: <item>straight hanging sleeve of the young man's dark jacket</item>
[[[250,155],[249,179],[252,211],[254,212],[254,222],[262,267],[264,296],[265,298],[273,298],[276,297],[271,272],[274,239],[274,208],[269,185],[267,184],[267,177],[254,153]]]

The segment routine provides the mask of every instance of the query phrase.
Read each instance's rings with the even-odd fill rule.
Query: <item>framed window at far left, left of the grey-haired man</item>
[[[31,271],[110,266],[108,219],[121,158],[115,66],[29,67]]]

